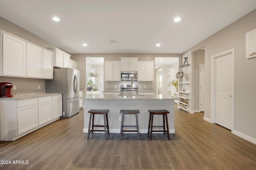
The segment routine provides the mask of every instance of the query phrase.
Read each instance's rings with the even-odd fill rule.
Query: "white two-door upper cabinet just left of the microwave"
[[[105,61],[105,81],[121,81],[121,62]]]

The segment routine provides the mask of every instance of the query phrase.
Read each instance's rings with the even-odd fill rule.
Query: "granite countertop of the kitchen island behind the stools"
[[[87,95],[79,99],[86,100],[178,100],[178,97],[168,95],[134,95],[133,98],[129,95]]]

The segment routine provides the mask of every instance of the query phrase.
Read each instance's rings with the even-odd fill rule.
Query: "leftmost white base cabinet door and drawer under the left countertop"
[[[25,99],[17,102],[18,134],[38,127],[38,103],[37,98]]]

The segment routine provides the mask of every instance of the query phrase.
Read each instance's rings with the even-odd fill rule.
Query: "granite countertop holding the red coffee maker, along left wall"
[[[0,98],[0,100],[22,100],[22,99],[31,99],[36,97],[44,97],[51,95],[60,95],[62,93],[26,93],[26,94],[17,94],[13,97]]]

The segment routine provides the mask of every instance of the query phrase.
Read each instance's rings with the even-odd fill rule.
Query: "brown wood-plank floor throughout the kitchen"
[[[176,107],[175,107],[176,108]],[[256,145],[216,124],[204,113],[175,109],[175,134],[83,133],[84,113],[61,119],[14,142],[0,142],[1,170],[256,169]],[[146,119],[148,121],[148,118]],[[20,162],[13,162],[20,161]],[[23,161],[23,162],[22,162]],[[17,163],[17,164],[14,164]]]

